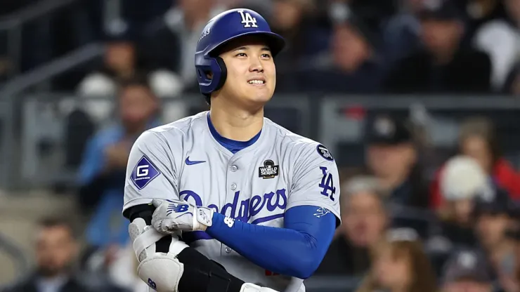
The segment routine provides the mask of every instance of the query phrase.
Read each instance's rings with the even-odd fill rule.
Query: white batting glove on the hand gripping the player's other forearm
[[[156,207],[152,215],[152,226],[158,232],[164,234],[182,231],[206,231],[212,226],[214,210],[205,207],[194,206],[183,200],[157,200],[152,201]]]

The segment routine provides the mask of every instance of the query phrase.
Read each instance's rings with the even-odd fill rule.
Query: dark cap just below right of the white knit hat
[[[507,214],[514,215],[514,208],[509,194],[502,189],[495,189],[489,194],[476,197],[474,214]]]

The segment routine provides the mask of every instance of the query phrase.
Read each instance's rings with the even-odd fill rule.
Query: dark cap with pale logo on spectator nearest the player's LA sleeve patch
[[[403,121],[379,116],[368,123],[368,144],[398,145],[412,142],[412,131]]]

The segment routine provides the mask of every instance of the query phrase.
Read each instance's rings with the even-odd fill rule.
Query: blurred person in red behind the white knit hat
[[[509,193],[512,199],[520,199],[520,175],[502,157],[495,127],[490,120],[476,117],[462,123],[459,152],[476,159],[495,185]],[[440,188],[443,169],[444,166],[437,171],[436,178],[431,185],[430,201],[432,207],[436,209],[444,204]]]

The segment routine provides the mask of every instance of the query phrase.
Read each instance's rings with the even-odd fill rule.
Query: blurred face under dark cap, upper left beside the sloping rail
[[[129,42],[109,44],[105,52],[105,65],[118,74],[129,72],[135,65],[135,48]]]

